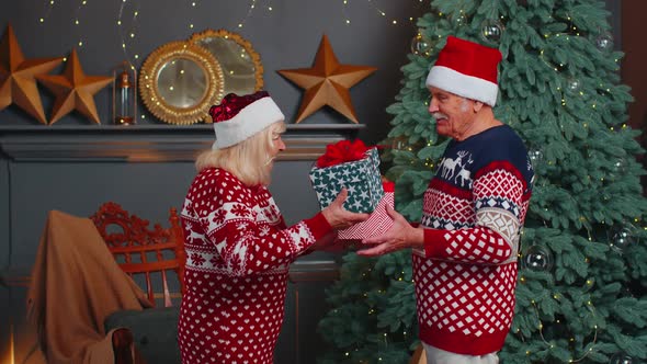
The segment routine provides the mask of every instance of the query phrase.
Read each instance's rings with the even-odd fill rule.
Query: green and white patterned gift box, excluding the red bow
[[[347,187],[349,196],[344,208],[353,213],[372,213],[384,196],[378,167],[377,148],[368,149],[361,160],[325,168],[313,167],[310,182],[321,209],[334,201],[342,187]]]

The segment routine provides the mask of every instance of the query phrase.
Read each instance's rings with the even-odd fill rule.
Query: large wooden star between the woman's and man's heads
[[[324,34],[313,68],[283,69],[279,73],[305,89],[297,124],[325,105],[357,124],[349,89],[376,70],[368,66],[340,65]]]

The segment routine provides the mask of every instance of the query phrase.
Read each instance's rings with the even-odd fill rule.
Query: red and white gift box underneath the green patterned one
[[[371,216],[362,223],[355,224],[348,229],[339,230],[338,239],[344,241],[357,242],[365,238],[376,237],[385,234],[393,226],[393,219],[386,213],[386,206],[394,207],[395,183],[384,182],[384,196],[371,213]]]

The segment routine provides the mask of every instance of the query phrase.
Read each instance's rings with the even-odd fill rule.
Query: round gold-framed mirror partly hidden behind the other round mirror
[[[263,88],[261,57],[239,34],[205,30],[193,34],[189,42],[207,49],[218,59],[225,77],[224,94],[249,94]]]

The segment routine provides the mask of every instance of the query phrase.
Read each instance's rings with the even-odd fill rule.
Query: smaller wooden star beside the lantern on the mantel
[[[63,75],[43,75],[36,78],[56,95],[49,125],[75,110],[101,124],[93,96],[110,84],[113,78],[83,73],[76,48],[72,49]]]

